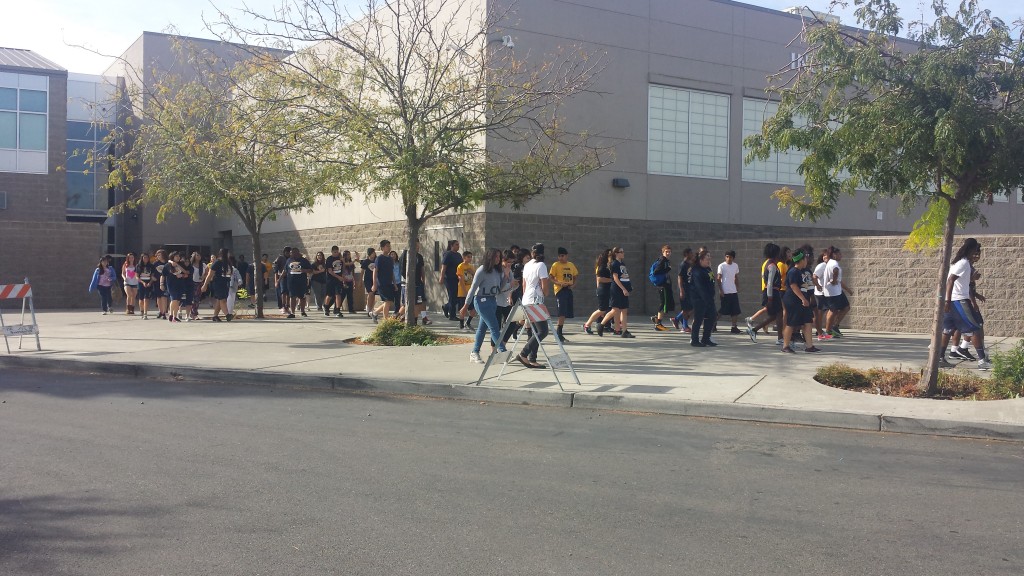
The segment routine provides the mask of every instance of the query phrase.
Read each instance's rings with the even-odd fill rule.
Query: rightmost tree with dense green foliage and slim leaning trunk
[[[938,288],[944,294],[957,222],[980,202],[1024,183],[1024,45],[1011,28],[965,0],[933,0],[934,19],[904,28],[891,0],[855,0],[861,29],[808,19],[795,66],[769,77],[778,113],[750,136],[748,160],[806,153],[803,193],[776,192],[794,217],[827,217],[844,194],[870,191],[904,209],[943,214]],[[897,35],[907,33],[908,39]],[[941,208],[935,207],[941,205]],[[923,222],[927,225],[927,221]],[[936,389],[941,297],[922,381]]]

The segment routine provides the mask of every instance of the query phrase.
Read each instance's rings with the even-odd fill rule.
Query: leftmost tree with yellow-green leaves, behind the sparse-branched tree
[[[128,94],[129,101],[144,98],[145,111],[112,136],[124,146],[109,182],[134,191],[115,209],[156,206],[157,221],[171,212],[193,220],[233,214],[252,236],[258,266],[263,224],[279,213],[309,209],[319,196],[343,194],[341,175],[313,157],[324,145],[289,106],[292,93],[278,82],[280,60],[272,54],[229,65],[208,52],[180,51],[193,65],[190,79],[167,74]],[[263,318],[263,283],[254,284],[256,314]]]

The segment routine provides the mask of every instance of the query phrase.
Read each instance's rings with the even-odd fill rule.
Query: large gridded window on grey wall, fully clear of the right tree
[[[728,178],[729,96],[650,86],[647,171]]]

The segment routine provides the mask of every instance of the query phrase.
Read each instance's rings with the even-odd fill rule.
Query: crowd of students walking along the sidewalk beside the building
[[[815,341],[843,337],[840,326],[850,310],[850,291],[843,281],[843,252],[835,246],[815,252],[807,244],[796,250],[772,242],[766,244],[760,269],[761,306],[745,318],[743,329],[738,325],[742,313],[735,252],[726,251],[723,260],[713,268],[707,247],[696,252],[685,248],[678,269],[672,262],[672,253],[671,246],[662,246],[660,255],[648,269],[647,280],[657,290],[657,312],[650,317],[655,331],[672,330],[665,324],[668,319],[676,330],[689,334],[691,346],[707,348],[719,345],[713,333],[723,319],[730,322],[731,333],[745,332],[753,341],[762,330],[770,333],[769,328],[774,327],[775,343],[786,354],[796,353],[797,342],[802,343],[804,352],[816,353],[820,348]],[[556,254],[549,266],[543,244],[528,250],[513,245],[507,250],[486,250],[477,265],[473,252],[463,251],[458,241],[449,242],[437,275],[446,294],[440,310],[445,318],[458,321],[460,329],[476,332],[471,361],[482,362],[480,348],[487,332],[493,348],[504,352],[520,326],[507,322],[512,306],[519,301],[542,304],[549,292],[553,292],[556,304],[552,315],[557,319],[555,336],[568,341],[565,324],[575,316],[574,291],[581,275],[565,248],[558,248]],[[951,357],[977,360],[968,348],[969,343],[974,343],[979,367],[985,369],[988,362],[983,321],[977,305],[984,296],[975,289],[980,275],[974,269],[980,255],[981,246],[975,239],[968,239],[951,262],[944,334],[953,342]],[[332,316],[333,308],[333,315],[342,318],[342,308],[355,314],[353,294],[358,265],[367,316],[375,322],[392,315],[404,319],[406,306],[413,305],[415,322],[431,324],[424,259],[419,251],[416,258],[415,279],[410,283],[403,279],[406,255],[399,257],[388,240],[368,249],[364,258],[358,254],[353,258],[352,251],[342,252],[332,246],[330,255],[316,252],[309,259],[299,249],[285,247],[273,262],[264,254],[256,265],[248,264],[242,256],[236,259],[229,250],[220,250],[209,261],[196,252],[186,256],[183,252],[157,250],[153,256],[143,253],[137,259],[135,254],[127,254],[120,275],[111,265],[110,256],[104,256],[93,274],[90,291],[99,293],[103,314],[113,312],[113,291],[122,286],[126,314],[134,315],[137,307],[142,319],[148,319],[152,301],[156,318],[170,322],[199,319],[200,299],[209,295],[213,300],[211,320],[219,322],[233,318],[240,294],[254,299],[254,282],[260,281],[268,293],[276,293],[278,306],[287,318],[308,316],[311,305],[327,317]],[[607,248],[597,255],[594,283],[597,310],[583,324],[583,332],[634,338],[629,330],[629,310],[635,286],[625,249]],[[411,292],[407,288],[410,284]],[[479,323],[474,327],[476,319]],[[518,356],[519,362],[530,368],[541,367],[537,353],[539,341],[548,335],[547,323],[538,323],[538,330],[537,338],[530,338]],[[947,344],[943,343],[943,366],[950,365],[945,359]]]

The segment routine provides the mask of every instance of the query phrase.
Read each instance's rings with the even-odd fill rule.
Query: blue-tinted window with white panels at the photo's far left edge
[[[30,74],[0,74],[0,165],[4,171],[49,171],[49,79]]]

